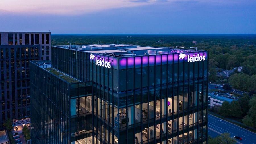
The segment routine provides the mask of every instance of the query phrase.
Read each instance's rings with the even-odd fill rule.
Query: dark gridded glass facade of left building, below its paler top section
[[[39,59],[40,45],[0,45],[0,127],[30,116],[29,61]]]

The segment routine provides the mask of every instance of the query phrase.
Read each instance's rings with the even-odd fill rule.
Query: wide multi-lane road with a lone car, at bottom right
[[[243,139],[241,141],[237,141],[239,144],[256,144],[256,133],[208,114],[208,135],[216,137],[226,132],[230,133],[231,137],[235,135],[242,137]]]

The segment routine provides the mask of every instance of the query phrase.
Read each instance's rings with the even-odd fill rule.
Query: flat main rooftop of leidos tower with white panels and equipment
[[[88,53],[97,53],[102,55],[109,55],[112,57],[131,57],[143,55],[158,55],[158,54],[172,54],[172,53],[188,53],[201,50],[186,49],[183,47],[148,47],[139,45],[121,45],[121,44],[98,44],[98,45],[58,45],[66,49],[73,49],[77,51],[85,51]]]

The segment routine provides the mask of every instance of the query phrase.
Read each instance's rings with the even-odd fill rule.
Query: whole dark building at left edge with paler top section
[[[30,116],[29,61],[49,60],[50,32],[0,32],[0,127]]]

